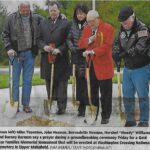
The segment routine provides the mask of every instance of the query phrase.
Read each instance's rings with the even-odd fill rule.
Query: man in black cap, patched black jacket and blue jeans
[[[150,34],[145,24],[140,22],[131,7],[120,10],[118,19],[121,28],[113,45],[113,58],[118,63],[124,59],[123,100],[126,112],[125,127],[136,126],[134,119],[135,92],[139,97],[139,127],[147,127],[149,121],[149,85],[150,64],[147,47]]]

